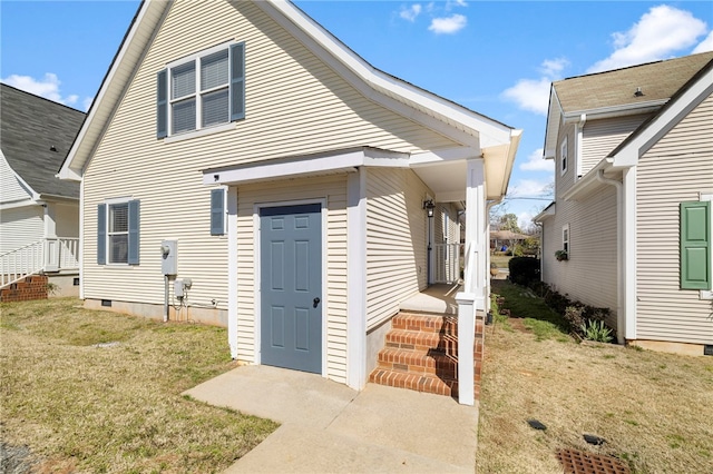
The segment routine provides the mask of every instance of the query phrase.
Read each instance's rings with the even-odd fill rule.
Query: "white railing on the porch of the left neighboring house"
[[[0,287],[41,271],[78,268],[79,238],[46,238],[0,255]]]

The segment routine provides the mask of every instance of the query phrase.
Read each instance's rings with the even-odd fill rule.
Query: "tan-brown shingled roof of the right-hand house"
[[[554,87],[565,113],[665,100],[673,96],[711,59],[713,59],[713,52],[702,52],[564,79],[554,82]],[[641,97],[634,95],[637,87],[642,89],[643,96]]]

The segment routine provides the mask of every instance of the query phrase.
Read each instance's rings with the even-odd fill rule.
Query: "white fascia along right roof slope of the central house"
[[[463,140],[463,137],[457,132],[457,128],[447,124],[448,120],[452,120],[466,129],[471,130],[471,132],[466,134],[467,136],[472,137],[473,132],[479,135],[481,140],[480,146],[482,147],[502,145],[509,138],[510,127],[486,116],[467,110],[455,102],[450,102],[375,69],[291,2],[275,0],[271,2],[260,1],[255,4],[299,38],[316,53],[320,59],[325,61],[340,76],[371,100],[463,144],[470,144],[472,139]],[[282,14],[275,14],[276,12]],[[346,73],[346,71],[351,73]],[[363,86],[360,85],[360,82]],[[393,99],[390,95],[394,95],[401,100]],[[394,106],[394,102],[402,103],[402,100],[409,103],[408,109],[410,110]],[[419,110],[419,107],[433,111],[445,119],[434,120],[433,117]],[[447,127],[437,126],[436,122],[438,121]]]

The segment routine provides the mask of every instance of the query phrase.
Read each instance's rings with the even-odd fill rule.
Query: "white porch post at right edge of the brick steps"
[[[458,303],[458,402],[475,404],[476,314],[485,312],[486,300],[486,194],[485,160],[468,160],[466,177],[466,271],[465,290]]]

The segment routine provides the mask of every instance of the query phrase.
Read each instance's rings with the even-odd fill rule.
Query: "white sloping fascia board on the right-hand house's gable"
[[[653,147],[671,128],[686,116],[702,98],[713,93],[713,68],[703,73],[688,89],[686,89],[674,102],[632,137],[614,154],[614,167],[631,167],[638,164],[638,159]]]

